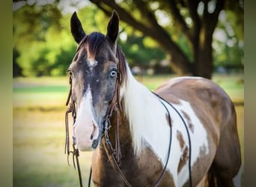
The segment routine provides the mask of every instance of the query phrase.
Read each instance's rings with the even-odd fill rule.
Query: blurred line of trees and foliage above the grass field
[[[76,50],[70,16],[106,33],[121,17],[118,43],[131,66],[168,61],[179,75],[211,78],[216,67],[243,69],[243,1],[90,0],[13,2],[13,76],[64,76]]]

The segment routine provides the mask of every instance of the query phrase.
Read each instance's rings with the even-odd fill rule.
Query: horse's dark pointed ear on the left
[[[76,43],[80,43],[80,41],[85,37],[85,31],[82,28],[82,24],[79,18],[76,15],[76,12],[73,13],[70,19],[70,28],[73,38],[76,40]]]

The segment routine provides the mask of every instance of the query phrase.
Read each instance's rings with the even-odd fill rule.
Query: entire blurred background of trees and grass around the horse
[[[236,105],[243,152],[243,0],[13,1],[13,186],[79,186],[64,154],[70,16],[106,34],[113,10],[136,79],[152,91],[175,76],[212,79]],[[80,157],[86,184],[91,153]]]

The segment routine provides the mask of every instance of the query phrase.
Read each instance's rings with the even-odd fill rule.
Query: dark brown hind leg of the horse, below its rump
[[[238,171],[241,167],[240,141],[234,108],[231,117],[224,121],[226,123],[221,126],[219,146],[211,169],[216,176],[217,186],[241,186],[240,182],[234,184],[234,177],[240,173]]]

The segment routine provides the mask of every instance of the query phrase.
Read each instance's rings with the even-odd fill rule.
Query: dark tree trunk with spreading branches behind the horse
[[[171,69],[177,74],[208,79],[213,73],[213,31],[219,13],[229,8],[243,17],[243,1],[241,5],[238,0],[90,1],[108,15],[117,10],[121,20],[156,40],[171,57]],[[168,19],[169,24],[161,19]],[[177,43],[177,34],[186,38],[192,59]]]

